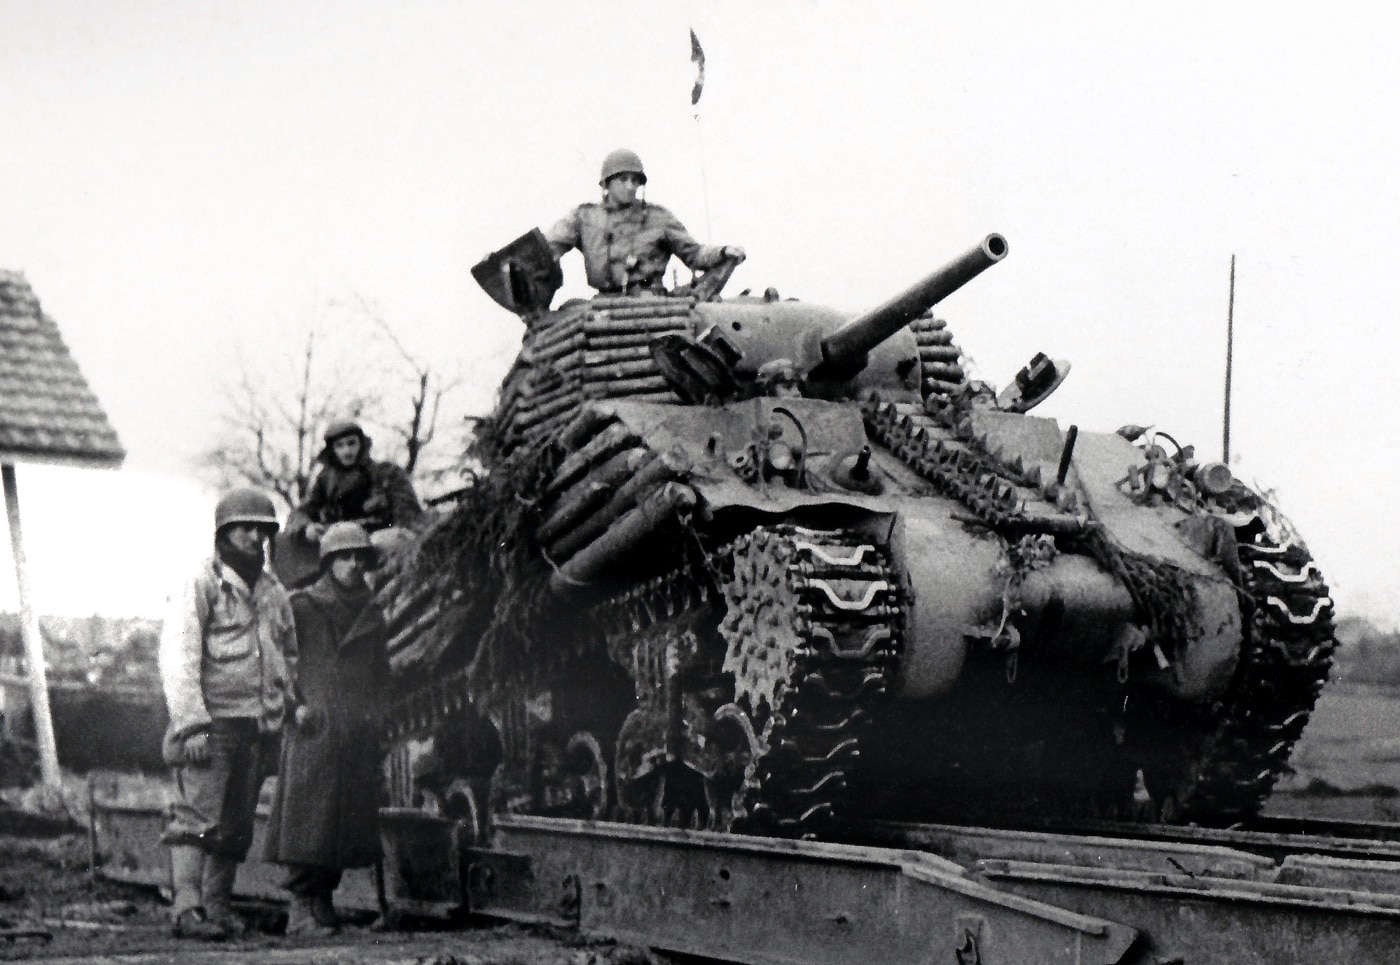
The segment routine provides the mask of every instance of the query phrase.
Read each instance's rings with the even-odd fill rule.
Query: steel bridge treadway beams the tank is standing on
[[[162,885],[154,810],[92,808],[94,867]],[[337,902],[391,917],[550,923],[752,965],[1263,965],[1400,955],[1400,825],[1263,819],[1075,833],[848,822],[839,840],[382,812],[385,861]],[[1296,829],[1324,833],[1296,833]],[[238,891],[279,898],[256,860]]]

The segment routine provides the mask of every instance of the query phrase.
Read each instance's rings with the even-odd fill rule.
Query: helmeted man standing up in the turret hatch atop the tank
[[[601,202],[580,204],[545,232],[559,258],[573,248],[584,254],[588,284],[601,294],[659,293],[666,262],[675,255],[690,270],[739,263],[736,245],[701,245],[675,214],[637,196],[647,172],[634,151],[619,148],[603,158],[598,182]]]

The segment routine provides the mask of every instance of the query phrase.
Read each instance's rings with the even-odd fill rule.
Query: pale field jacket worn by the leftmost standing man
[[[213,717],[252,717],[260,733],[277,731],[293,633],[291,602],[277,577],[263,570],[249,591],[232,567],[206,560],[171,599],[161,630],[169,737],[183,740]]]

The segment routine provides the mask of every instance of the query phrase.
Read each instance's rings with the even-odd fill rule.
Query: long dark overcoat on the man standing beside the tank
[[[389,681],[388,629],[368,591],[347,595],[325,574],[291,595],[293,700],[311,724],[284,731],[266,857],[353,868],[379,859],[379,737]]]

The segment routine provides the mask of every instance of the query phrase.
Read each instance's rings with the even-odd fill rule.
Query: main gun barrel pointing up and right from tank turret
[[[865,353],[1000,262],[1008,251],[1005,238],[990,234],[980,245],[920,279],[885,304],[853,318],[822,339],[822,361],[818,370],[836,374],[851,367],[860,368]],[[823,373],[812,374],[820,377]]]

